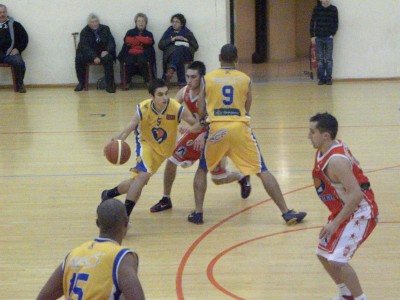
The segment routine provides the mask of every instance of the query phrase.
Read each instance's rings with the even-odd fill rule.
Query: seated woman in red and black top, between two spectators
[[[147,16],[138,13],[135,16],[135,28],[128,30],[124,37],[124,44],[118,54],[118,60],[126,63],[126,82],[131,83],[132,77],[139,74],[147,83],[149,75],[155,77],[156,52],[154,51],[153,34],[146,29]],[[152,74],[148,74],[147,63],[150,63]],[[122,73],[122,67],[121,67]]]

